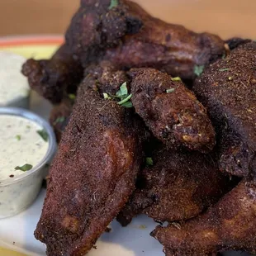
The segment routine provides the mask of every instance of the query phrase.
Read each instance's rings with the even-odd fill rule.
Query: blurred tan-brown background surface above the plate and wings
[[[135,0],[165,21],[256,39],[256,0]],[[79,0],[0,0],[0,36],[63,34]]]

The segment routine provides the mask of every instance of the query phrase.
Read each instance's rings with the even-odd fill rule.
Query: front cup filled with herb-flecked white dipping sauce
[[[19,178],[30,170],[15,169],[25,164],[34,168],[45,158],[50,143],[39,130],[43,128],[24,117],[0,115],[0,218],[25,210],[40,191],[44,172]]]

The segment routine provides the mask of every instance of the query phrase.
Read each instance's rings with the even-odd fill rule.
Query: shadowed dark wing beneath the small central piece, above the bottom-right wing
[[[117,216],[121,225],[140,213],[161,222],[187,220],[226,192],[227,178],[214,154],[160,149],[152,159],[154,166],[140,173],[137,189]]]

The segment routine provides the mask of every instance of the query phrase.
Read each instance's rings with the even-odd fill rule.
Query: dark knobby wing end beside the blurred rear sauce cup
[[[80,59],[62,45],[51,59],[28,59],[22,67],[33,90],[53,103],[61,102],[65,94],[76,92],[83,79]]]

